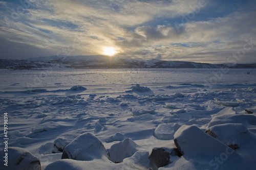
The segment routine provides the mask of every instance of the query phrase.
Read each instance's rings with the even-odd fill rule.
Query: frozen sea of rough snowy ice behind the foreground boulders
[[[141,147],[138,150],[151,152],[155,147],[174,148],[173,136],[182,125],[205,131],[223,109],[227,114],[230,109],[236,114],[246,114],[247,109],[255,115],[256,111],[256,69],[0,72],[1,129],[7,112],[9,147],[27,149],[40,159],[42,169],[61,159],[62,153],[54,148],[54,140],[61,135],[93,133],[108,151],[131,138]],[[133,90],[136,84],[150,90]],[[255,137],[256,122],[247,128]],[[0,138],[3,148],[3,133]],[[246,149],[241,150],[242,156]],[[193,168],[182,157],[173,156],[170,162],[159,169],[178,169],[178,165],[200,169],[200,163]],[[202,163],[202,169],[213,167]],[[141,165],[141,169],[148,167]]]

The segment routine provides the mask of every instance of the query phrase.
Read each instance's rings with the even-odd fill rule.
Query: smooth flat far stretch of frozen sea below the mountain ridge
[[[250,72],[248,75],[247,72]],[[64,70],[1,70],[1,91],[44,88],[67,89],[74,85],[116,89],[134,84],[147,86],[179,85],[182,83],[253,84],[256,69],[64,69]],[[123,92],[123,91],[120,91]],[[92,92],[93,93],[93,92]]]

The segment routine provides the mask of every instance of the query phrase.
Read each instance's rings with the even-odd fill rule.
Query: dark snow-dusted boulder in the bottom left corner
[[[4,158],[7,155],[7,159]],[[37,157],[32,155],[28,150],[18,147],[8,147],[8,152],[4,150],[0,151],[1,161],[0,169],[12,169],[12,170],[21,170],[21,169],[34,169],[40,170],[41,164]],[[7,160],[7,162],[5,162]],[[4,165],[7,163],[8,166]]]

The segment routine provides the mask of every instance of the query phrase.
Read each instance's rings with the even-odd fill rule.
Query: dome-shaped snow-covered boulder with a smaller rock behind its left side
[[[61,159],[108,160],[108,154],[103,143],[95,135],[83,133],[64,148]]]

